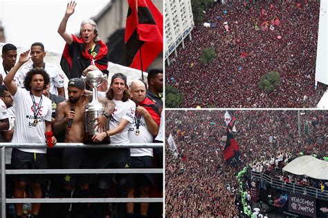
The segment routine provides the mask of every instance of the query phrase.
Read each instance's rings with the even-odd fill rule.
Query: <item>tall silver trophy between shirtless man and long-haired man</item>
[[[89,71],[86,74],[85,81],[92,88],[92,101],[84,110],[84,143],[94,143],[93,135],[109,130],[109,122],[106,123],[106,129],[95,127],[97,120],[95,118],[104,113],[104,105],[98,101],[97,88],[104,82],[104,75],[100,70]],[[102,143],[109,143],[109,137],[102,140]]]

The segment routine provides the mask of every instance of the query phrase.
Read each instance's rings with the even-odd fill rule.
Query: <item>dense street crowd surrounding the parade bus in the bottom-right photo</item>
[[[224,111],[166,112],[165,136],[174,136],[179,155],[165,149],[165,215],[237,217],[237,172],[245,166],[260,170],[257,162],[271,163],[273,159],[275,166],[275,160],[284,161],[286,154],[291,160],[300,152],[319,159],[328,155],[328,115],[324,110],[301,115],[301,135],[296,110],[235,110],[234,116],[242,163],[228,166],[222,154],[226,144],[222,139],[226,135]],[[304,123],[311,123],[308,132],[303,130]]]

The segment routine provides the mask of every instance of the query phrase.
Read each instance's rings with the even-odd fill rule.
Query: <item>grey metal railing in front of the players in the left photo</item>
[[[163,173],[163,168],[150,169],[42,169],[42,170],[6,170],[5,148],[48,148],[46,143],[0,143],[1,149],[1,217],[6,217],[7,203],[126,203],[126,202],[163,202],[163,198],[42,198],[7,199],[6,175],[18,174],[106,174],[106,173]],[[56,143],[53,148],[163,148],[163,143],[127,143],[127,144],[84,144]]]

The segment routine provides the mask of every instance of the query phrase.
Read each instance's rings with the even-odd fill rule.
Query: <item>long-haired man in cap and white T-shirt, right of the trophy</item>
[[[134,122],[134,114],[136,112],[136,104],[131,101],[129,92],[127,90],[127,77],[122,73],[116,73],[111,77],[111,85],[106,92],[107,99],[116,104],[111,115],[104,114],[98,117],[101,123],[109,118],[109,130],[94,135],[93,141],[99,142],[110,136],[111,143],[129,143],[127,136],[129,123]],[[129,148],[108,148],[102,149],[102,153],[98,157],[99,168],[129,168],[130,152]],[[99,176],[99,196],[107,197],[107,192],[111,186],[113,178],[112,174]],[[116,175],[116,183],[118,186],[117,197],[127,197],[128,175]],[[113,204],[112,204],[113,205]],[[118,217],[123,217],[125,214],[125,204],[117,204],[116,211],[119,212]],[[102,217],[104,217],[107,210],[107,204],[100,205]],[[114,208],[113,206],[111,207]]]

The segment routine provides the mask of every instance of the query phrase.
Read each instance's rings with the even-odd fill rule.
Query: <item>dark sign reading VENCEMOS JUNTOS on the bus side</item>
[[[316,199],[289,193],[289,211],[309,217],[316,217]]]

